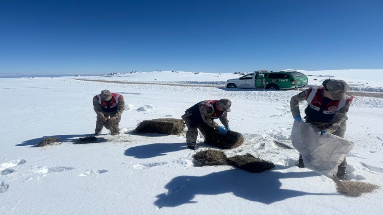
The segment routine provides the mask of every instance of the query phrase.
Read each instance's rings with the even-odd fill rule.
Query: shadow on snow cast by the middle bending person
[[[124,155],[135,158],[154,158],[156,156],[164,156],[172,151],[185,149],[186,143],[153,143],[128,148],[125,150]]]

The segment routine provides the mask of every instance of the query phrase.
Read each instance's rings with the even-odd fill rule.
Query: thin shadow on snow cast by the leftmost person
[[[65,135],[52,135],[52,136],[46,136],[46,137],[57,137],[59,140],[57,142],[65,142],[65,143],[77,143],[77,140],[79,140],[79,137],[90,137],[95,136],[95,134],[65,134]],[[101,135],[97,135],[97,140],[92,143],[101,143],[106,142],[107,140],[103,137],[100,137]],[[31,140],[25,140],[19,144],[16,144],[16,146],[27,146],[30,145],[31,147],[37,147],[38,143],[41,142],[46,137],[39,137],[34,138]]]

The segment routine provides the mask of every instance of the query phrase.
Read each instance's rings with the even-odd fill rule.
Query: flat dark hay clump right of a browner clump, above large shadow
[[[237,168],[244,169],[250,173],[260,173],[267,169],[274,168],[275,165],[270,161],[265,161],[260,158],[256,158],[249,153],[246,155],[236,155],[228,158],[231,165]]]

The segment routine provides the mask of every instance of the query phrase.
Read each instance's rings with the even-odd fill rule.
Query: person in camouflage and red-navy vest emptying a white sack
[[[321,135],[330,133],[344,137],[346,132],[347,112],[354,97],[347,96],[349,85],[343,80],[327,79],[322,83],[323,87],[309,88],[291,97],[290,109],[293,118],[300,122],[301,115],[299,102],[307,101],[308,106],[304,110],[306,122],[311,123],[322,130]],[[299,156],[298,167],[304,168],[302,156]],[[344,180],[347,177],[347,161],[340,163],[337,178]]]

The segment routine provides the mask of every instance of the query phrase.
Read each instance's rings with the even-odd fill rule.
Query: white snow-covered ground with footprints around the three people
[[[344,79],[351,90],[382,92],[383,70],[303,71],[309,85]],[[232,73],[142,72],[80,77],[223,85]],[[296,167],[291,145],[290,91],[141,85],[79,81],[74,78],[1,78],[0,214],[380,214],[381,189],[360,197],[336,191],[334,181]],[[315,80],[316,79],[316,80]],[[92,98],[101,90],[124,96],[121,134],[104,129],[97,143],[73,144],[93,135]],[[186,148],[185,134],[136,134],[146,119],[178,118],[207,99],[229,98],[232,130],[244,135],[227,156],[251,153],[276,167],[248,173],[232,166],[198,166],[193,155],[209,147],[198,137]],[[144,110],[139,110],[141,107]],[[301,104],[301,112],[305,104]],[[348,179],[383,184],[383,99],[357,97],[348,113],[345,138]],[[302,114],[304,115],[304,114]],[[218,121],[219,122],[219,121]],[[54,146],[34,147],[43,137]]]

